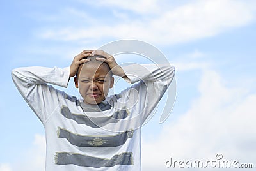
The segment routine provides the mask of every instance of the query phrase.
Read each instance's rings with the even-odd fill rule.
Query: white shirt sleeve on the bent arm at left
[[[45,68],[34,66],[12,70],[12,79],[29,107],[44,124],[58,106],[60,98],[64,94],[51,85],[47,85],[47,83],[67,87],[69,74],[69,67]]]

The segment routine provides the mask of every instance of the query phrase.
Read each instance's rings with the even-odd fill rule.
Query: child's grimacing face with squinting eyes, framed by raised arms
[[[106,64],[87,63],[81,67],[76,87],[84,99],[84,103],[95,105],[105,100],[109,89],[113,87],[114,78],[109,74]]]

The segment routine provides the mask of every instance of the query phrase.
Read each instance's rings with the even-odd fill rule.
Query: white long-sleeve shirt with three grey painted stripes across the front
[[[141,170],[141,125],[172,82],[175,68],[154,64],[123,67],[131,87],[108,96],[107,110],[84,112],[67,87],[68,68],[12,71],[13,82],[44,124],[45,170]]]

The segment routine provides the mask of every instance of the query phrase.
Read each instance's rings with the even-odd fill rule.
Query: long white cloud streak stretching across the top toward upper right
[[[133,7],[129,6],[130,2],[129,4],[123,1],[122,3],[118,1],[100,2],[98,5],[113,8],[113,11],[116,8],[129,8],[129,10],[141,11],[142,14],[138,17],[128,15],[129,19],[127,19],[127,15],[124,15],[123,12],[125,17],[121,17],[122,20],[117,20],[114,24],[94,18],[98,22],[92,24],[86,22],[84,27],[61,26],[56,30],[49,27],[40,33],[40,37],[66,41],[111,37],[140,39],[158,44],[182,43],[215,36],[228,29],[244,26],[252,22],[255,13],[255,8],[253,8],[255,2],[253,3],[253,1],[198,0],[189,1],[188,4],[170,9],[167,7],[172,4],[166,3],[162,8],[162,4],[156,1],[145,3],[141,0],[138,3],[133,3]],[[154,10],[151,10],[153,8]],[[143,10],[154,11],[155,14],[148,15]],[[82,13],[79,12],[79,15],[83,16]],[[84,15],[88,16],[86,13]],[[113,12],[113,15],[116,15],[116,11]]]

